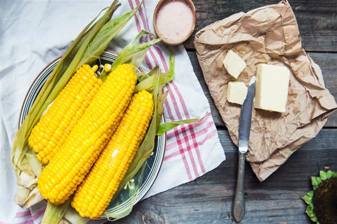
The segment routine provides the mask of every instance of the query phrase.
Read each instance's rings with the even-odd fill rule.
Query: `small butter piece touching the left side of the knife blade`
[[[243,82],[228,82],[226,98],[231,103],[243,104],[248,88]]]

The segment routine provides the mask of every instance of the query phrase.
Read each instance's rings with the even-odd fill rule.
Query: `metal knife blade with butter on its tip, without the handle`
[[[239,151],[245,153],[248,150],[250,125],[252,120],[253,99],[255,93],[256,77],[250,79],[248,92],[245,101],[242,104],[239,119]]]

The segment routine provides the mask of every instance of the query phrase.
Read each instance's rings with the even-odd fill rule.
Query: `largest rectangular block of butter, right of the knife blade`
[[[254,107],[284,113],[289,76],[290,72],[285,66],[257,65]]]

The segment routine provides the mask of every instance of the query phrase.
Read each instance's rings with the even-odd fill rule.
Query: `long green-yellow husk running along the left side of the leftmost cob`
[[[107,10],[96,23],[94,23],[94,21],[97,17],[93,19],[71,43],[48,78],[47,82],[43,85],[29,111],[29,114],[14,137],[11,159],[16,172],[18,184],[14,201],[21,207],[28,208],[43,199],[36,187],[37,177],[42,170],[42,164],[34,156],[32,156],[35,155],[35,153],[28,147],[29,134],[40,119],[43,111],[63,89],[76,68],[81,66],[79,63],[82,60],[85,60],[86,62],[90,61],[91,56],[98,57],[99,55],[95,54],[100,54],[106,47],[106,45],[102,43],[109,42],[135,13],[135,10],[132,10],[126,13],[127,16],[123,15],[112,20],[112,23],[108,22],[113,12],[119,6],[120,4],[117,0],[115,0],[109,7],[109,10]],[[106,27],[104,27],[104,24],[107,22],[111,28],[109,31],[107,31]],[[92,24],[94,25],[90,28]],[[114,29],[112,29],[112,25],[114,25]],[[96,42],[98,40],[99,42]],[[89,55],[87,48],[89,43],[92,41],[102,45],[90,45],[92,50]]]

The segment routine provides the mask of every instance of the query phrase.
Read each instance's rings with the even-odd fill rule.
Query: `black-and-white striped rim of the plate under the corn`
[[[113,51],[113,50],[104,50],[102,52],[102,54],[104,53],[108,53],[110,55],[114,55],[114,56],[117,56],[118,53],[116,51]],[[39,74],[35,77],[35,79],[32,81],[31,85],[29,86],[28,90],[27,90],[27,93],[24,97],[24,100],[23,100],[23,103],[22,103],[22,106],[21,106],[21,109],[20,109],[20,115],[19,115],[19,122],[18,122],[18,129],[20,128],[20,125],[22,124],[23,122],[23,109],[24,109],[24,106],[27,104],[27,97],[29,96],[29,93],[32,89],[32,87],[34,86],[34,84],[36,83],[37,79],[40,78],[41,74],[52,64],[54,63],[55,61],[59,60],[62,56],[59,56],[59,57],[56,57],[54,60],[52,60],[51,62],[49,62],[40,72]],[[141,72],[144,72],[141,68],[139,68],[138,70],[140,70]],[[29,111],[29,110],[28,110]],[[21,121],[22,120],[22,121]],[[161,122],[165,122],[166,119],[165,119],[165,116],[162,116]],[[165,154],[165,149],[166,149],[166,141],[167,141],[167,135],[165,133],[165,136],[164,137],[164,141],[163,141],[163,150],[162,150],[162,153],[160,154],[160,156],[156,156],[156,158],[158,158],[157,162],[156,160],[154,160],[153,164],[158,164],[157,167],[154,167],[154,165],[152,166],[151,168],[151,171],[153,169],[154,172],[151,174],[151,172],[149,173],[149,175],[147,176],[146,180],[144,181],[144,183],[142,184],[141,188],[140,188],[140,192],[139,192],[139,195],[137,196],[136,200],[135,200],[135,203],[134,204],[137,204],[146,194],[147,192],[150,190],[150,188],[152,187],[152,185],[154,184],[155,180],[157,179],[157,176],[158,176],[158,173],[161,169],[161,166],[162,166],[162,162],[163,162],[163,159],[164,159],[164,154]],[[158,144],[157,144],[157,148],[159,148],[159,138],[161,139],[162,137],[158,136]],[[157,169],[156,169],[157,168]],[[152,178],[152,179],[149,179],[149,178]],[[149,181],[148,181],[149,179]],[[147,183],[148,181],[148,183]],[[146,184],[146,185],[144,185]],[[143,187],[143,188],[142,188]],[[124,203],[128,202],[129,200],[125,201]],[[123,203],[123,204],[124,204]],[[127,203],[128,204],[128,203]],[[125,207],[122,207],[120,208],[119,210],[123,210]],[[98,218],[98,219],[101,219],[101,218]],[[97,220],[97,219],[96,219]]]

